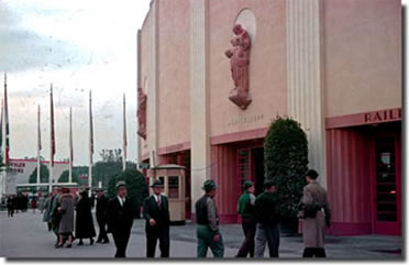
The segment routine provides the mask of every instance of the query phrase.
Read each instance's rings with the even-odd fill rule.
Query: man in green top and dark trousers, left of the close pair
[[[254,236],[256,232],[254,184],[251,180],[245,180],[243,189],[244,192],[239,199],[237,211],[242,217],[242,229],[245,239],[236,256],[246,257],[250,254],[251,257],[254,257]]]

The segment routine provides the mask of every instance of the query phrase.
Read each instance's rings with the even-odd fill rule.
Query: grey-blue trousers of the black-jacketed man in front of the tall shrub
[[[278,257],[279,247],[279,231],[278,225],[273,223],[257,223],[256,232],[256,257],[264,256],[264,250],[266,249],[266,243],[268,244],[268,251],[270,257]]]

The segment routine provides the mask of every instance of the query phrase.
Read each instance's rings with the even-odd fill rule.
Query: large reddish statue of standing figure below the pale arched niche
[[[235,34],[231,40],[233,47],[225,51],[225,56],[230,58],[230,66],[234,88],[230,91],[229,99],[245,110],[252,102],[248,95],[248,65],[251,40],[247,31],[241,24],[235,24],[233,27]]]

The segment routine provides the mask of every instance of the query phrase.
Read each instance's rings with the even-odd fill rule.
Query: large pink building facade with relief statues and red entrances
[[[137,34],[140,163],[187,168],[187,218],[213,178],[221,222],[237,222],[241,184],[262,190],[268,126],[290,117],[331,233],[400,234],[401,23],[398,0],[153,0]]]

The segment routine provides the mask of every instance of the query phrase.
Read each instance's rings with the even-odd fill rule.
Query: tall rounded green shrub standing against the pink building
[[[306,185],[308,141],[300,124],[289,118],[277,117],[264,143],[265,178],[276,183],[283,218],[296,218],[298,203]]]

